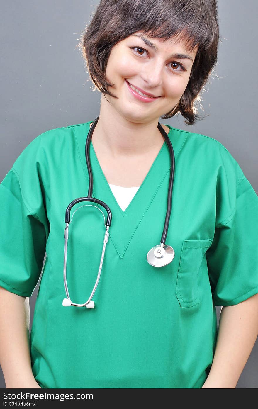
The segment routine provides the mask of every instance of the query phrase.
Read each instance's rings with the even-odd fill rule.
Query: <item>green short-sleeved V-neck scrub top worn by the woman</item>
[[[64,307],[65,210],[87,196],[91,122],[36,137],[0,184],[0,285],[30,297],[47,253],[30,335],[34,377],[43,388],[201,388],[215,351],[215,306],[258,293],[258,197],[220,142],[166,125],[175,153],[166,244],[175,257],[153,267],[146,255],[166,216],[166,142],[125,211],[91,144],[93,197],[110,207],[112,225],[95,308]],[[101,212],[85,204],[73,207],[69,229],[75,303],[90,297],[105,233]]]

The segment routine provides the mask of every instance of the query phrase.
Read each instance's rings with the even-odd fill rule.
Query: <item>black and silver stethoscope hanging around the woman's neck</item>
[[[72,306],[76,306],[76,307],[94,308],[95,304],[94,304],[94,301],[92,300],[92,297],[94,296],[94,292],[96,291],[96,288],[97,288],[98,283],[99,283],[99,278],[100,278],[103,259],[104,259],[104,254],[105,254],[105,247],[106,247],[106,244],[108,243],[108,237],[109,237],[108,231],[109,231],[109,228],[111,226],[112,213],[111,213],[110,208],[108,207],[108,205],[106,205],[106,203],[102,202],[99,199],[92,198],[93,176],[92,176],[92,169],[91,169],[91,164],[90,164],[90,141],[92,139],[92,133],[94,131],[94,128],[95,128],[98,120],[99,120],[99,116],[96,117],[96,119],[94,120],[92,126],[90,126],[90,130],[88,132],[87,139],[86,139],[86,144],[85,144],[85,157],[86,157],[86,164],[87,164],[87,170],[88,170],[88,175],[89,175],[88,196],[78,198],[78,199],[74,199],[70,203],[70,205],[67,206],[67,209],[65,211],[64,284],[65,284],[65,292],[66,292],[66,297],[67,297],[67,298],[63,299],[63,306],[65,306],[65,307],[68,307],[68,306],[72,305]],[[175,155],[174,155],[173,146],[171,144],[171,141],[170,141],[168,135],[166,134],[166,131],[164,130],[164,128],[161,126],[161,124],[159,122],[158,122],[158,129],[161,132],[161,134],[163,135],[163,137],[164,137],[164,139],[166,141],[166,144],[168,146],[168,150],[169,150],[169,154],[170,154],[170,160],[171,160],[171,168],[170,168],[170,177],[169,177],[169,184],[168,184],[167,211],[166,211],[166,218],[165,218],[162,237],[161,237],[161,240],[160,240],[160,244],[158,244],[157,246],[154,246],[152,249],[149,250],[149,252],[147,254],[147,261],[148,261],[148,263],[150,265],[153,265],[154,267],[163,267],[164,265],[167,265],[168,263],[171,263],[171,261],[173,260],[173,258],[175,256],[174,249],[171,246],[165,244],[166,236],[167,236],[167,233],[168,233],[169,219],[170,219],[170,214],[171,214],[172,189],[173,189],[174,173],[175,173]],[[99,209],[99,207],[96,207],[94,205],[84,205],[84,206],[96,207],[96,209],[101,211],[101,213],[103,214],[104,225],[105,225],[105,236],[104,236],[104,240],[103,240],[103,249],[102,249],[101,260],[100,260],[100,264],[99,264],[99,272],[98,272],[98,275],[97,275],[96,282],[94,284],[93,290],[92,290],[92,292],[90,294],[90,297],[84,304],[76,304],[76,303],[72,302],[72,300],[70,298],[70,295],[69,295],[68,286],[67,286],[67,279],[66,279],[68,230],[69,230],[70,222],[72,222],[72,219],[70,221],[70,212],[71,212],[72,207],[74,205],[76,205],[77,203],[80,203],[80,202],[98,203],[99,205],[104,207],[104,209],[108,213],[107,222],[105,223],[105,216],[104,216],[103,212],[101,211],[101,209]],[[83,207],[83,206],[81,206],[81,207]],[[80,207],[78,209],[80,209]],[[78,209],[76,209],[74,211],[74,213]],[[74,216],[74,213],[72,215],[72,218]]]

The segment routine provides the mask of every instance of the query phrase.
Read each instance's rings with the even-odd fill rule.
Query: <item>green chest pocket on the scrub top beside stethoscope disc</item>
[[[176,297],[182,308],[200,303],[199,274],[212,240],[184,240],[177,273]]]

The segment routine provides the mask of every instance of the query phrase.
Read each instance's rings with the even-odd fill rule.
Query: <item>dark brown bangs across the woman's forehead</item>
[[[128,28],[150,38],[182,41],[187,52],[210,49],[218,37],[218,26],[211,9],[204,6],[203,0],[144,2],[144,7],[135,1],[132,9],[126,9]]]

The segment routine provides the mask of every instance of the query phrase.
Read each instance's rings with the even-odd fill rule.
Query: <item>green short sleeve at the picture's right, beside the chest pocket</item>
[[[206,252],[213,300],[218,306],[236,305],[258,293],[258,196],[238,164],[235,169],[237,175],[227,178],[230,183],[218,187],[217,207],[230,202],[232,212],[216,225]],[[229,168],[227,172],[232,171]]]

